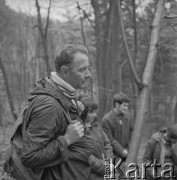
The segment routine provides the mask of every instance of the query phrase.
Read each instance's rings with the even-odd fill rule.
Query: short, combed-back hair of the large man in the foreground
[[[83,53],[88,56],[88,50],[83,45],[65,44],[62,46],[55,57],[56,72],[59,72],[62,66],[71,64],[76,53]]]

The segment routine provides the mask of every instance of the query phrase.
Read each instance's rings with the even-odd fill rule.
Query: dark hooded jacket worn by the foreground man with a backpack
[[[77,107],[51,78],[35,84],[29,102],[20,150],[22,164],[31,168],[39,180],[87,180],[93,136],[86,132],[70,146],[62,137],[70,123],[68,119],[81,121]]]

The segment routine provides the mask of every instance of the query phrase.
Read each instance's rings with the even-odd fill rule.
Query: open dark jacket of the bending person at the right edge
[[[165,133],[165,129],[154,133],[150,140],[147,143],[144,156],[143,156],[143,163],[145,164],[153,164],[154,162],[156,164],[160,164],[160,157],[161,157],[161,149],[164,146],[162,142],[162,134]],[[174,170],[176,171],[177,169],[177,144],[172,144],[171,148],[171,157],[174,165]],[[162,166],[162,165],[161,165]],[[163,169],[163,167],[162,167]],[[161,169],[157,169],[158,172],[160,172]],[[154,180],[153,178],[153,170],[152,168],[147,168],[147,179],[148,180]]]

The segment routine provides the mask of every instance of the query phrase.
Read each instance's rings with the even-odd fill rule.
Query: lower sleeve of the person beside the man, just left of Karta
[[[92,167],[91,172],[104,175],[104,161],[102,159],[98,159],[91,154],[89,156],[89,164]]]

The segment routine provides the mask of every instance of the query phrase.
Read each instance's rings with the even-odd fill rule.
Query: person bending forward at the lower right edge
[[[160,131],[154,133],[147,143],[143,163],[146,165],[152,165],[151,168],[147,169],[147,179],[176,179],[177,170],[177,124],[173,124],[168,128],[163,128]],[[153,172],[153,165],[157,165],[156,171]],[[168,171],[163,174],[163,171],[169,167],[171,169],[171,175]],[[173,173],[172,173],[173,172]],[[166,178],[165,178],[166,177]],[[168,177],[168,178],[167,178]]]

